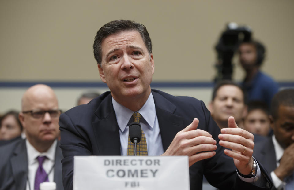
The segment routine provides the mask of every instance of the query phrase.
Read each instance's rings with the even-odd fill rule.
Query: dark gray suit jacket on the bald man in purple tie
[[[28,155],[25,140],[14,141],[0,147],[0,190],[23,190],[28,176]],[[55,152],[54,182],[63,190],[61,177],[62,152],[59,142]],[[33,187],[31,187],[33,188]]]

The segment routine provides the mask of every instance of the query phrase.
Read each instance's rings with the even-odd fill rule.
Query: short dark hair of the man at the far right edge
[[[284,89],[273,96],[270,113],[274,120],[279,117],[278,110],[281,105],[290,107],[294,106],[294,89]]]

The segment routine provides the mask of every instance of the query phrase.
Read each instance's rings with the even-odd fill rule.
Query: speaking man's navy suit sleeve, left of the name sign
[[[59,126],[61,131],[60,148],[62,149],[62,183],[65,190],[73,189],[74,156],[89,156],[92,147],[87,142],[87,136],[78,126],[75,126],[70,117],[60,115]]]

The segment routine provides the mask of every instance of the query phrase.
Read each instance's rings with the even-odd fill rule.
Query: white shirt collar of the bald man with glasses
[[[57,139],[53,142],[51,147],[46,152],[39,152],[36,150],[35,147],[28,141],[28,139],[25,140],[26,146],[27,146],[27,152],[28,152],[28,163],[31,164],[36,161],[36,158],[38,156],[46,156],[49,160],[54,161],[55,159],[55,148],[57,145]]]

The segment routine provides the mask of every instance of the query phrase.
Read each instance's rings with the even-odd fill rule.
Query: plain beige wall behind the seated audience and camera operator
[[[230,21],[249,25],[266,44],[266,73],[279,82],[293,82],[293,7],[292,0],[1,0],[0,82],[100,82],[93,38],[103,24],[115,19],[147,27],[153,42],[154,82],[211,81],[216,74],[214,46]],[[243,71],[239,64],[235,68],[234,78],[241,80]],[[0,88],[0,112],[19,109],[24,90]],[[74,106],[75,98],[86,91],[56,90],[63,109]],[[168,92],[209,101],[211,89],[192,91]],[[68,93],[74,93],[71,99]]]

